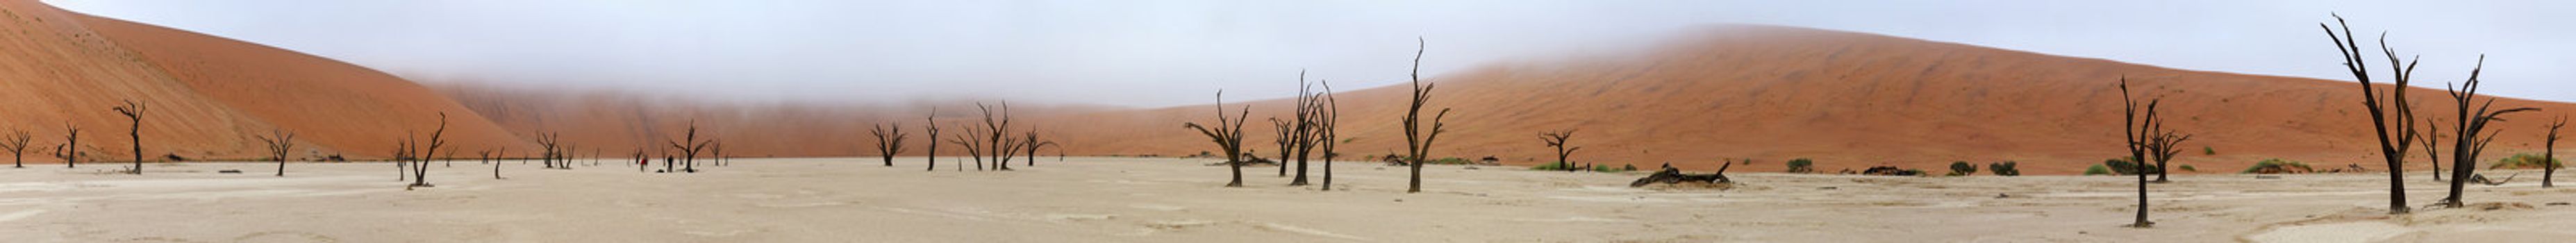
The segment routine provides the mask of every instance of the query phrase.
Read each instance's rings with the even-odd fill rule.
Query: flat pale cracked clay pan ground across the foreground
[[[459,160],[404,191],[392,163],[155,163],[144,176],[0,168],[5,243],[2548,243],[2576,238],[2576,189],[2537,171],[2473,186],[2470,202],[2532,209],[2383,215],[2385,173],[2177,176],[2154,186],[2159,227],[2130,220],[2125,176],[1790,176],[1734,173],[1731,191],[1628,189],[1633,173],[1340,163],[1334,191],[1283,186],[1275,168],[1180,158],[1043,158],[1020,171],[953,171],[920,158],[739,160],[706,173],[634,165],[538,171]],[[245,173],[216,173],[237,168]],[[659,165],[657,165],[659,168]],[[1316,168],[1319,173],[1319,168]],[[2576,176],[2561,176],[2576,178]],[[1316,184],[1321,178],[1316,176]],[[2409,176],[2411,204],[2439,199]],[[1999,194],[2004,194],[1999,199]]]

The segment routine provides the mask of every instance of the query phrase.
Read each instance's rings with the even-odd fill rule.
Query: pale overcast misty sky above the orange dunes
[[[2576,101],[2568,0],[46,0],[404,78],[703,93],[719,101],[1185,106],[1777,23],[2182,70],[2349,80],[2342,13],[2421,54],[2419,83]],[[2370,44],[2378,47],[2378,44]],[[2375,57],[2375,52],[2372,52]],[[2375,70],[2383,72],[2383,70]]]

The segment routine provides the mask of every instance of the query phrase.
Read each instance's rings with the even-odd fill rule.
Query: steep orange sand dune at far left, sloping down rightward
[[[129,160],[129,122],[111,106],[147,103],[144,158],[265,158],[258,134],[299,134],[296,158],[381,158],[407,129],[448,114],[456,147],[528,147],[492,122],[410,80],[325,57],[191,31],[0,3],[0,129],[28,129],[46,153],[80,127],[82,160]],[[31,150],[33,153],[33,150]],[[31,155],[31,160],[49,160]]]

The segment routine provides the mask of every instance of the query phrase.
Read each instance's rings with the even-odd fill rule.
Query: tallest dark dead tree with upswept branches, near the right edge
[[[2334,52],[2344,54],[2344,70],[2349,70],[2354,83],[2362,85],[2362,109],[2370,109],[2370,132],[2380,140],[2380,160],[2388,160],[2388,215],[2406,215],[2406,150],[2414,145],[2411,134],[2416,134],[2414,109],[2406,101],[2406,90],[2411,85],[2406,83],[2414,80],[2416,62],[2398,65],[2398,54],[2388,47],[2388,36],[2380,36],[2380,52],[2388,57],[2388,70],[2396,78],[2396,85],[2388,90],[2383,103],[2380,90],[2370,85],[2370,65],[2362,59],[2362,44],[2360,39],[2352,39],[2352,23],[2344,23],[2344,16],[2334,16],[2334,23],[2344,26],[2344,31],[2336,34],[2334,26],[2326,23],[2316,23],[2316,28],[2326,31],[2326,39],[2334,41]],[[2396,119],[2396,124],[2391,124],[2391,119]]]

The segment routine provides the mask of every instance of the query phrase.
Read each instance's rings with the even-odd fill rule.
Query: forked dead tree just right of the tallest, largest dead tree
[[[2460,83],[2460,88],[2442,85],[2442,90],[2450,90],[2450,98],[2452,98],[2452,103],[2458,109],[2458,119],[2455,119],[2458,124],[2452,124],[2452,132],[2450,132],[2450,134],[2458,134],[2458,137],[2452,137],[2452,145],[2450,145],[2450,178],[2452,181],[2450,181],[2450,196],[2442,196],[2442,207],[2463,207],[2460,191],[2468,186],[2468,176],[2473,176],[2478,171],[2476,168],[2478,165],[2478,153],[2486,153],[2486,142],[2496,142],[2496,134],[2486,132],[2486,122],[2504,122],[2501,116],[2504,114],[2514,114],[2514,111],[2540,111],[2540,109],[2527,109],[2527,106],[2491,111],[2496,106],[2496,98],[2486,98],[2483,103],[2478,103],[2478,72],[2481,70],[2486,70],[2486,54],[2478,54],[2478,65],[2468,70],[2468,80]],[[2478,106],[2470,109],[2470,103],[2478,103]]]

